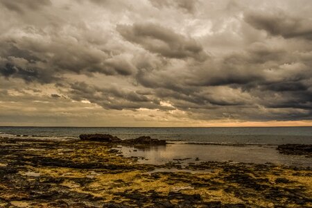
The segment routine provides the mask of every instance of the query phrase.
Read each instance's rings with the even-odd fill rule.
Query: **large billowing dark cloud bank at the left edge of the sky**
[[[0,73],[6,77],[51,83],[64,73],[130,76],[136,71],[131,58],[114,49],[98,49],[98,43],[89,40],[78,42],[76,37],[44,33],[35,26],[18,32],[24,37],[3,35],[0,40]]]

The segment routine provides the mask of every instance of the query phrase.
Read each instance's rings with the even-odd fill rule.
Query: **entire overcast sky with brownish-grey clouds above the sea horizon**
[[[0,125],[312,125],[311,0],[0,0]]]

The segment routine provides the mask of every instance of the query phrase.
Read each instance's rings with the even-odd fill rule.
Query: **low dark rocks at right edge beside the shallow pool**
[[[286,155],[306,155],[312,157],[312,144],[282,144],[277,147],[279,153]]]

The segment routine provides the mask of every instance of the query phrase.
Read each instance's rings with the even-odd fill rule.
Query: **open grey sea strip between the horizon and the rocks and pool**
[[[0,137],[78,139],[81,134],[110,134],[121,139],[150,136],[182,144],[312,144],[312,127],[241,128],[85,128],[0,127]]]

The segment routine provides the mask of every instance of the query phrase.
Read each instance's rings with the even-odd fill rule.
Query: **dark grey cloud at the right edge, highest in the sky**
[[[250,12],[245,21],[254,28],[265,30],[270,35],[284,38],[312,40],[312,20],[306,17],[293,17],[285,12]]]

